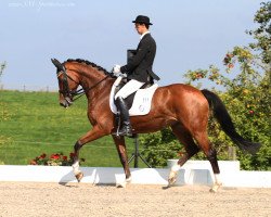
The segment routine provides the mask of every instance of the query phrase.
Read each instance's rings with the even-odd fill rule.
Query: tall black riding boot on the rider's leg
[[[129,112],[127,108],[127,105],[121,97],[118,97],[116,99],[116,106],[118,111],[120,112],[120,120],[121,120],[121,127],[118,131],[119,136],[127,136],[131,137],[132,136],[132,127],[130,123],[130,117],[129,117]]]

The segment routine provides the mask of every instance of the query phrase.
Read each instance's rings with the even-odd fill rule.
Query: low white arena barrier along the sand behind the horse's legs
[[[167,186],[170,167],[177,159],[169,159],[169,168],[131,168],[131,183]],[[237,161],[219,161],[223,187],[271,188],[271,171],[240,170]],[[125,180],[120,167],[81,167],[81,182],[121,186]],[[0,181],[77,182],[69,166],[15,166],[0,165]],[[189,161],[181,167],[176,186],[211,186],[214,175],[208,161]]]

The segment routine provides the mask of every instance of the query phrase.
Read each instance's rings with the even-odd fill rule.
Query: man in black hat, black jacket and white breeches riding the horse
[[[136,29],[140,37],[136,55],[127,65],[120,67],[115,65],[113,73],[126,73],[128,82],[115,95],[116,106],[120,111],[121,129],[119,136],[132,136],[132,128],[129,118],[129,112],[124,101],[129,94],[139,90],[144,84],[153,82],[153,79],[159,80],[159,77],[153,72],[153,62],[156,53],[156,43],[149,31],[150,18],[144,15],[137,16],[134,23]]]

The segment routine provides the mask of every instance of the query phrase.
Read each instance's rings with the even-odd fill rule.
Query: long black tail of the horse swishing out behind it
[[[209,106],[212,108],[214,116],[219,122],[223,131],[241,150],[255,154],[259,150],[260,143],[247,141],[236,132],[230,114],[217,94],[206,89],[202,90],[202,93],[207,99]]]

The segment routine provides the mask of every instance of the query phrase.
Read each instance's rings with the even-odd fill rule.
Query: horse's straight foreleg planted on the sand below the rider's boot
[[[113,136],[113,140],[116,144],[117,152],[119,155],[120,163],[122,164],[124,170],[125,170],[125,177],[126,180],[124,183],[121,183],[121,187],[125,187],[127,182],[131,181],[131,173],[128,164],[128,157],[127,157],[127,150],[125,144],[125,138],[124,137],[115,137]]]

